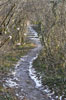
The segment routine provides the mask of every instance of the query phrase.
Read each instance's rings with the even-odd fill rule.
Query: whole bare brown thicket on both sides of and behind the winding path
[[[66,0],[1,1],[0,35],[12,36],[11,44],[22,44],[27,21],[37,25],[43,50],[35,67],[44,85],[66,96]]]

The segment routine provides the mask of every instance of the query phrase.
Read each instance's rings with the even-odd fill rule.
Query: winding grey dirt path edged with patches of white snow
[[[42,86],[41,77],[38,79],[32,66],[42,49],[42,45],[38,33],[31,26],[28,27],[28,39],[35,45],[35,48],[30,49],[26,56],[20,58],[3,86],[14,89],[18,100],[53,100],[50,95],[47,95],[48,88]]]

